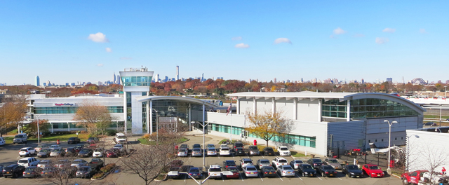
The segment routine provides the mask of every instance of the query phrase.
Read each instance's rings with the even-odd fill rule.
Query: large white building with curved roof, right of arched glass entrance
[[[287,143],[295,149],[323,156],[342,154],[348,149],[367,149],[369,143],[388,146],[406,144],[406,130],[422,128],[424,109],[402,97],[384,93],[234,93],[236,114],[208,112],[208,131],[234,139],[264,143],[246,132],[251,123],[246,115],[280,111],[295,127],[286,137],[274,137],[269,144]],[[243,137],[242,137],[243,134]]]

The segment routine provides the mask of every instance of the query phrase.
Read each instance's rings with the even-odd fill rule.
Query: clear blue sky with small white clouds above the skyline
[[[448,80],[449,1],[1,1],[0,83]],[[91,36],[92,34],[92,36]],[[109,49],[107,49],[109,48]],[[109,51],[109,52],[108,52]]]

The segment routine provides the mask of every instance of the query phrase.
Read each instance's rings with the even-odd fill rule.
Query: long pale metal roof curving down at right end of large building
[[[403,97],[398,97],[396,95],[390,95],[385,93],[316,93],[316,92],[310,92],[310,91],[303,91],[303,92],[287,92],[287,93],[265,93],[265,92],[243,92],[243,93],[234,93],[234,94],[227,94],[229,97],[237,97],[239,99],[241,98],[264,98],[265,100],[274,98],[275,100],[279,100],[282,98],[286,98],[286,100],[290,100],[293,98],[297,98],[298,100],[304,100],[304,99],[310,99],[310,100],[316,100],[316,99],[323,99],[325,101],[338,99],[341,101],[344,100],[358,100],[358,99],[364,99],[364,98],[377,98],[377,99],[383,99],[383,100],[391,100],[394,102],[398,102],[400,104],[405,104],[411,109],[414,109],[418,112],[426,111],[425,109],[422,109],[419,105],[411,102],[410,100],[407,100]]]

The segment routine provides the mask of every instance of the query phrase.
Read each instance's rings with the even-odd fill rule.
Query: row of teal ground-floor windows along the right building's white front
[[[224,133],[231,133],[231,126],[229,125],[220,125],[220,124],[213,124],[209,123],[209,130],[213,130],[216,132],[224,132]],[[232,134],[233,135],[241,135],[245,128],[240,127],[232,127]],[[253,133],[249,132],[248,137],[254,137],[254,138],[260,138],[254,135]],[[270,139],[273,142],[284,142],[288,144],[296,144],[300,146],[307,146],[311,148],[316,147],[316,137],[307,137],[302,135],[285,135],[284,137],[277,137],[274,136],[272,139]]]

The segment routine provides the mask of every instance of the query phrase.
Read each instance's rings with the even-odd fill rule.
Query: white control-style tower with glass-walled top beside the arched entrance
[[[142,134],[142,102],[138,102],[135,97],[149,94],[149,85],[152,82],[153,71],[147,68],[126,68],[120,71],[121,83],[123,83],[123,114],[125,114],[125,132],[128,127],[133,134]],[[131,108],[130,122],[128,123],[128,109]],[[146,119],[146,118],[145,118]],[[147,121],[145,121],[147,122]]]

